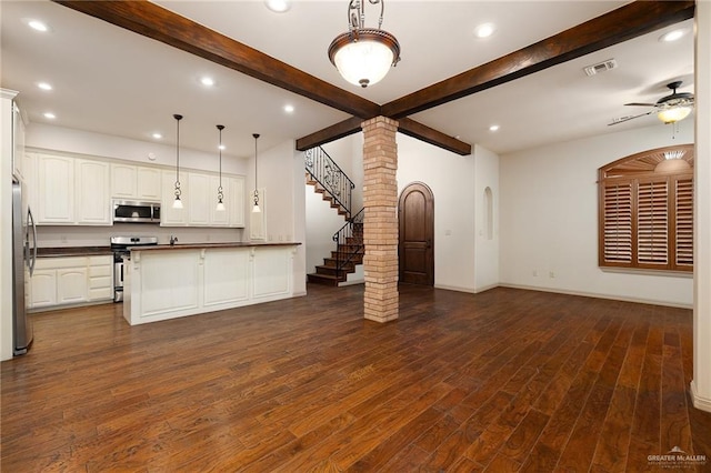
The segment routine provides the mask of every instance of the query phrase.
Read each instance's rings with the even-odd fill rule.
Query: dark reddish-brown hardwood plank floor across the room
[[[689,310],[499,288],[362,286],[129,326],[33,315],[2,363],[2,472],[711,470]],[[711,362],[711,360],[709,361]],[[679,447],[708,462],[664,464]]]

